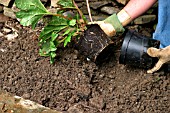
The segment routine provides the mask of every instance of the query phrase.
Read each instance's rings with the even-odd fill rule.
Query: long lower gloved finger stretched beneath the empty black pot
[[[158,71],[164,63],[165,62],[163,62],[162,59],[159,59],[159,61],[156,63],[156,65],[152,69],[147,70],[147,73],[154,73]]]

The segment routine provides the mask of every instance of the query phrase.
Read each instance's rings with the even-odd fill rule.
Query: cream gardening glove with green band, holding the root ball
[[[89,24],[98,24],[109,37],[112,37],[122,34],[125,31],[123,26],[129,23],[130,20],[131,18],[126,11],[121,10],[117,15],[113,14],[103,21],[89,22]]]

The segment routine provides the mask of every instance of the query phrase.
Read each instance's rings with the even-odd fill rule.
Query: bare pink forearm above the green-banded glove
[[[122,25],[127,25],[130,21],[146,12],[157,0],[130,0],[123,10],[130,17],[129,20],[122,20]],[[119,13],[118,13],[119,14]],[[119,15],[118,15],[119,16]],[[121,14],[120,14],[121,16]],[[121,17],[120,17],[121,18]]]

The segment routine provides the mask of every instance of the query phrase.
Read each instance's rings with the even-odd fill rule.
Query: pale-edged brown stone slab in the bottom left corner
[[[62,113],[20,96],[13,96],[2,89],[0,89],[0,97],[0,113],[4,111],[8,113]]]

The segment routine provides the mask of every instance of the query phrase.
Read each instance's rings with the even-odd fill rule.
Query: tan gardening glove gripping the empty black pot
[[[159,60],[156,65],[147,71],[147,73],[153,73],[161,68],[164,63],[170,61],[170,46],[167,46],[163,49],[157,49],[154,47],[148,48],[147,53],[151,57],[158,57]]]

